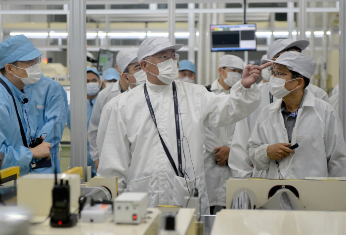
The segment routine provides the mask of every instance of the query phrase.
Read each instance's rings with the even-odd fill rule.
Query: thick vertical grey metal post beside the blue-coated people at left
[[[71,167],[87,175],[87,15],[85,0],[70,0]]]

